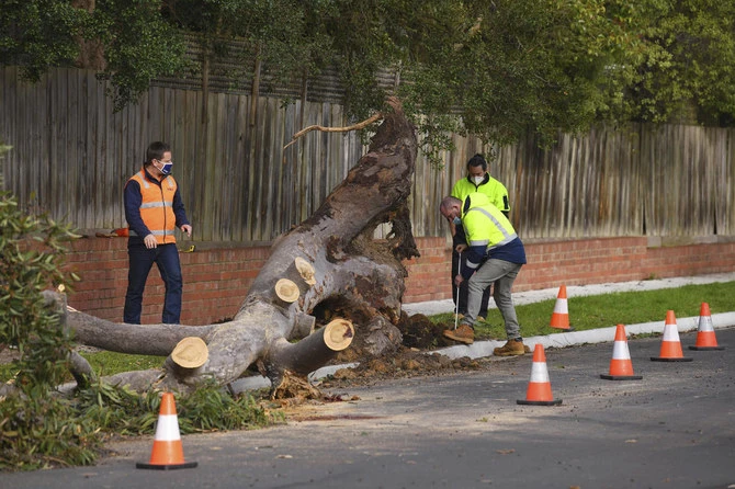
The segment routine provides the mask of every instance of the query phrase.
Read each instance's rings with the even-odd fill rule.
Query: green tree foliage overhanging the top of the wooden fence
[[[95,67],[122,107],[185,71],[186,36],[204,70],[240,39],[283,81],[336,68],[354,120],[383,107],[387,68],[429,145],[504,143],[598,121],[733,124],[733,19],[714,0],[9,0],[0,62],[30,79]]]

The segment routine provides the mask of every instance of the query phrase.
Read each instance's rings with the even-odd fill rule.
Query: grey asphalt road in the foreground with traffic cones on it
[[[612,343],[547,349],[561,406],[519,406],[531,355],[489,368],[332,389],[359,399],[301,408],[287,425],[183,437],[196,468],[136,469],[150,440],[115,443],[94,467],[0,475],[2,488],[735,488],[735,329],[723,351],[652,362],[660,337],[629,341],[641,380],[603,380]]]

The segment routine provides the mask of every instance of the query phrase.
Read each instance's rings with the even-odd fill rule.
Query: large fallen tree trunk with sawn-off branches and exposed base
[[[138,390],[192,389],[210,378],[226,385],[258,365],[278,387],[286,372],[306,375],[327,363],[353,336],[353,346],[372,354],[395,349],[402,341],[395,326],[406,276],[402,260],[418,255],[407,207],[417,144],[399,103],[392,106],[344,181],[310,218],[275,240],[231,321],[140,327],[69,311],[77,341],[104,350],[169,355],[186,337],[206,343],[201,366],[182,367],[169,357],[162,369],[109,380]],[[388,239],[373,239],[383,223],[392,225]]]

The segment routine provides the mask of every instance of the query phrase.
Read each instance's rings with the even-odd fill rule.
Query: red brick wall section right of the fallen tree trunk
[[[451,250],[444,238],[416,240],[421,257],[406,262],[404,303],[451,298]],[[645,237],[525,242],[528,264],[514,292],[735,271],[735,241],[666,243]]]

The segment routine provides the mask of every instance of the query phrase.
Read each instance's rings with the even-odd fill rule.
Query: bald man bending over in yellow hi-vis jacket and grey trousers
[[[466,244],[457,244],[459,252],[467,257],[467,266],[454,277],[457,287],[467,282],[467,315],[460,327],[444,331],[454,341],[471,344],[475,341],[474,323],[479,312],[483,291],[493,285],[493,298],[502,315],[508,341],[496,348],[498,356],[522,355],[530,352],[523,345],[516,307],[510,294],[518,272],[525,263],[523,242],[508,218],[493,204],[487,195],[471,193],[463,201],[444,197],[439,211],[449,221],[462,225]]]

